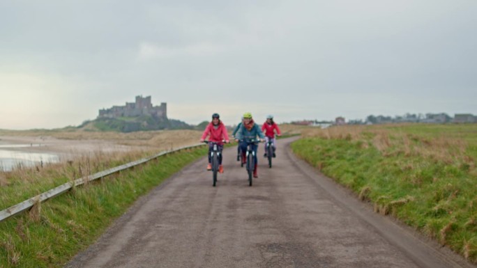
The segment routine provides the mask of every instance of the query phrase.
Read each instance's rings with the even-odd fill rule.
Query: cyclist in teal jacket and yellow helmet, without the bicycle
[[[247,152],[247,145],[250,143],[251,140],[256,140],[257,136],[259,136],[260,141],[264,141],[265,136],[262,132],[262,129],[255,124],[252,113],[243,113],[243,123],[239,130],[236,132],[235,140],[240,141],[240,147],[242,149],[242,163],[245,164],[246,156],[245,152]],[[252,150],[255,152],[255,166],[253,169],[253,177],[258,178],[258,171],[257,171],[257,144],[252,143]]]

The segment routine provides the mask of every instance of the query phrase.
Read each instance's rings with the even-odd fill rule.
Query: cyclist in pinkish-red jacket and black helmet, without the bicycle
[[[227,128],[224,123],[220,120],[218,113],[213,113],[212,122],[207,125],[200,142],[204,142],[206,137],[209,136],[209,141],[217,143],[218,150],[220,152],[218,161],[219,161],[219,173],[224,173],[224,167],[222,166],[222,149],[224,148],[224,143],[222,140],[225,140],[225,143],[229,143],[229,134],[227,134]],[[213,150],[213,144],[209,143],[209,164],[207,165],[207,170],[212,169],[211,165],[211,152]]]

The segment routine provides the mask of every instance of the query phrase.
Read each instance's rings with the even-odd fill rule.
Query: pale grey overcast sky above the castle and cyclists
[[[476,0],[0,1],[0,129],[477,114]]]

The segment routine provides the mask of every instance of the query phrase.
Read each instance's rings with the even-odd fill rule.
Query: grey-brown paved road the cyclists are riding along
[[[292,140],[273,168],[259,159],[252,187],[235,148],[217,187],[206,159],[191,164],[66,267],[474,267],[374,214],[296,159]]]

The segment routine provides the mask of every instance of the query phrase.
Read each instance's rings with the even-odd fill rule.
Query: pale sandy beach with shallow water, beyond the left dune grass
[[[200,132],[188,130],[130,134],[60,132],[52,135],[0,135],[0,170],[10,171],[19,162],[33,166],[127,152],[154,155],[164,150],[197,144],[199,137]]]

